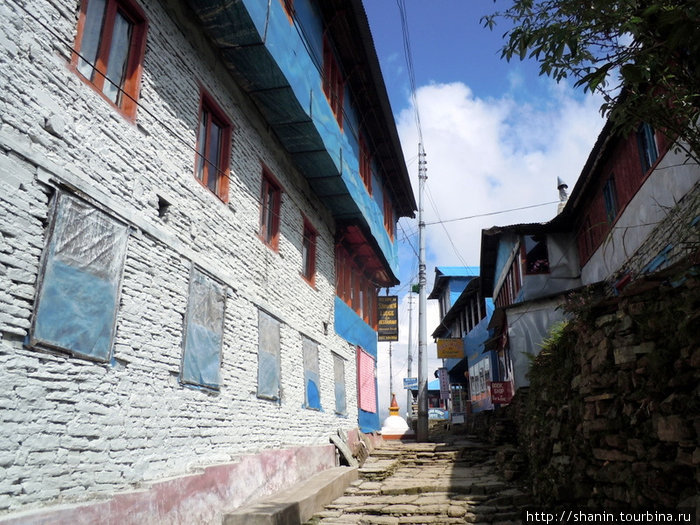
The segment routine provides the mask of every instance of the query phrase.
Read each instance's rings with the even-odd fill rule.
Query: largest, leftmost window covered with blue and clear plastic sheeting
[[[108,361],[129,229],[57,192],[30,342]]]

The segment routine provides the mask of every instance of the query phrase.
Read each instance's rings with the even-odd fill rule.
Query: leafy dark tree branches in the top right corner
[[[648,122],[700,159],[700,1],[512,0],[482,23],[499,19],[502,58],[534,58],[541,75],[601,93],[618,131]]]

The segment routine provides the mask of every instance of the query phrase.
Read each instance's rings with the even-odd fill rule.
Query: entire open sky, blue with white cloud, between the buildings
[[[478,266],[482,228],[551,219],[557,205],[469,220],[455,218],[553,202],[557,177],[569,188],[603,125],[601,100],[571,85],[538,75],[530,61],[500,58],[502,34],[480,22],[504,2],[498,0],[406,0],[416,81],[416,98],[427,154],[424,205],[428,291],[435,266]],[[411,102],[399,8],[395,0],[365,0],[379,63],[417,196],[418,133]],[[444,224],[432,224],[447,220]],[[400,341],[393,344],[394,391],[403,408],[408,314],[406,291],[417,282],[417,221],[399,222],[402,284]],[[417,302],[417,300],[416,300]],[[438,324],[437,305],[428,301],[428,334]],[[413,349],[417,348],[413,316]],[[431,338],[429,338],[429,341]],[[390,399],[388,343],[380,343],[379,395],[382,411]],[[429,379],[440,366],[429,345]],[[414,374],[416,371],[414,359]]]

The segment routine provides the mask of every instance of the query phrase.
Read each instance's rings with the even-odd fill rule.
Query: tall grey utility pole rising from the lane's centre
[[[426,174],[425,151],[418,145],[418,423],[416,440],[428,441],[428,330],[427,297],[425,293],[425,222],[423,221],[423,193]]]

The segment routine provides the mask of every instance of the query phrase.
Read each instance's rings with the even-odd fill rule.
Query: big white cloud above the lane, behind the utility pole
[[[513,89],[522,84],[521,78],[511,78]],[[541,84],[538,88],[541,88]],[[557,85],[554,82],[548,85],[545,96],[531,98],[529,103],[523,103],[520,98],[516,92],[500,98],[477,98],[469,86],[461,82],[431,84],[418,89],[418,107],[428,162],[427,187],[431,197],[426,198],[424,203],[426,223],[556,201],[557,177],[567,182],[570,189],[573,188],[603,125],[598,111],[601,101],[593,97],[577,99],[565,84]],[[401,111],[397,127],[417,198],[418,134],[412,107]],[[547,221],[554,217],[556,209],[556,204],[550,204],[446,223],[444,228],[449,232],[459,255],[455,253],[443,226],[427,226],[428,290],[432,287],[435,265],[479,265],[482,228]],[[402,220],[399,231],[405,231],[410,236],[416,231],[416,225],[415,220]],[[416,282],[417,264],[413,249],[418,248],[418,237],[412,236],[411,242],[413,248],[405,242],[400,246],[400,294],[405,293],[412,279]],[[416,352],[417,295],[414,302],[413,348]],[[406,377],[408,341],[406,296],[401,299],[400,305],[401,340],[392,347],[394,391],[403,415],[406,393],[402,378]],[[430,337],[438,322],[437,304],[428,301],[427,332],[431,342],[428,346],[428,380],[434,378],[433,371],[441,366],[441,361],[435,357],[435,345]],[[378,383],[382,421],[388,415],[390,402],[388,347],[388,343],[379,344]],[[417,376],[415,355],[413,375]]]

